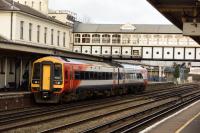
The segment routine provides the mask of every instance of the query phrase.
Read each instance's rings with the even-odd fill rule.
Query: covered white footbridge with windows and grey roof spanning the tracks
[[[144,59],[147,61],[142,62],[152,65],[200,59],[199,44],[173,25],[76,23],[73,51],[116,59]]]

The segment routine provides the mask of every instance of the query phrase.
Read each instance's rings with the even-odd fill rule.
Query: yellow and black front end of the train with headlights
[[[64,88],[63,64],[56,61],[34,63],[31,90],[36,103],[58,103]]]

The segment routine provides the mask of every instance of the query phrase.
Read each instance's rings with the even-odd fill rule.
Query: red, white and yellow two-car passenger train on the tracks
[[[47,56],[33,62],[31,92],[36,103],[143,92],[147,69],[117,62]]]

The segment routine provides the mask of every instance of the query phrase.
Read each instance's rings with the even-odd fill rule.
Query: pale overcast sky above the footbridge
[[[73,11],[91,23],[170,24],[146,0],[49,0],[49,7]]]

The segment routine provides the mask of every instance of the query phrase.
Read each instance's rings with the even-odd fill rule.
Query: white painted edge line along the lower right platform
[[[200,102],[200,100],[196,101],[195,103],[193,103],[193,104],[191,104],[191,105],[185,107],[184,109],[182,109],[182,110],[176,112],[175,114],[170,115],[170,116],[164,118],[163,120],[161,120],[161,121],[159,121],[159,122],[153,124],[153,125],[150,126],[150,127],[147,127],[146,129],[144,129],[144,130],[141,131],[140,133],[147,133],[147,132],[151,131],[153,128],[157,127],[157,126],[160,125],[161,123],[163,123],[163,122],[165,122],[166,120],[168,120],[168,119],[170,119],[170,118],[172,118],[172,117],[174,117],[174,116],[180,114],[181,112],[183,112],[183,111],[189,109],[190,107],[194,106],[195,104],[197,104],[197,103],[199,103],[199,102]]]

